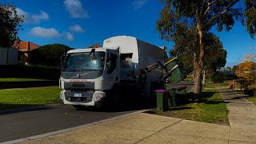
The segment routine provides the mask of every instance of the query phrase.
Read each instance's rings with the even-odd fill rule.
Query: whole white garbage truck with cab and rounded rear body
[[[72,57],[80,58],[79,54],[85,54],[88,58],[85,62],[74,60],[74,65],[77,62],[90,67],[97,64],[97,70],[67,69],[66,67],[74,67],[71,64]],[[89,57],[95,60],[89,62]],[[64,104],[82,106],[101,104],[103,98],[112,94],[111,90],[116,90],[123,82],[136,82],[140,70],[155,62],[163,64],[166,58],[166,50],[129,36],[107,38],[102,48],[70,50],[60,78],[61,101]],[[102,65],[98,66],[98,63]],[[150,93],[150,82],[158,81],[159,75],[158,70],[150,73],[146,82],[147,93]]]

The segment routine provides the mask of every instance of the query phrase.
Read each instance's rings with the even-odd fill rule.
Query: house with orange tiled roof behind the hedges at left
[[[30,52],[34,49],[38,49],[40,46],[33,42],[25,42],[22,40],[14,42],[14,48],[18,49],[18,59],[19,62],[22,62],[23,64],[29,63],[30,58]]]

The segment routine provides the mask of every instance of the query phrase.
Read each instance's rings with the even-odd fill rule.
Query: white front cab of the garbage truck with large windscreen
[[[64,104],[101,106],[106,92],[120,82],[119,48],[70,50],[62,65],[59,86]]]

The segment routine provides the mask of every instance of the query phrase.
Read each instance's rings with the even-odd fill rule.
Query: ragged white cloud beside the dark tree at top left
[[[18,15],[24,16],[25,23],[38,23],[42,20],[49,19],[49,15],[43,10],[40,10],[40,14],[32,14],[32,15],[20,8],[16,8],[16,10]]]

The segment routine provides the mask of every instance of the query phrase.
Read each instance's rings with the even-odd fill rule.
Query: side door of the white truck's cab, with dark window
[[[119,51],[109,50],[106,58],[107,82],[110,86],[120,82],[120,58]],[[112,84],[112,85],[111,85]]]

